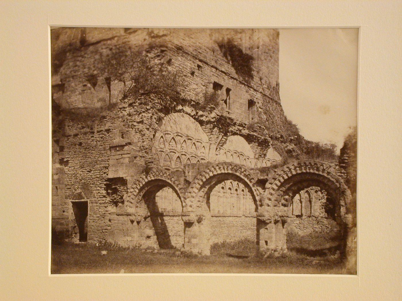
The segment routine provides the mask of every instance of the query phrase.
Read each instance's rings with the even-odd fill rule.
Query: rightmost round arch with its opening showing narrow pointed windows
[[[334,242],[345,251],[351,214],[356,213],[350,211],[350,191],[334,166],[315,161],[291,163],[275,171],[266,188],[267,205],[289,207],[288,230],[293,225],[302,234],[338,231]]]

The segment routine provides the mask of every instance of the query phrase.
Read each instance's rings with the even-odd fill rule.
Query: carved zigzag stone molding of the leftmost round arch
[[[183,208],[185,207],[184,187],[174,175],[163,169],[154,169],[147,175],[139,177],[133,185],[131,185],[127,192],[125,199],[125,209],[127,212],[133,213],[137,216],[144,215],[144,206],[141,204],[143,195],[153,187],[170,187],[178,195],[182,202]]]

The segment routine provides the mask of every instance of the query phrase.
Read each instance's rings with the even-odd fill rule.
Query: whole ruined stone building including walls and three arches
[[[224,48],[220,37],[251,53],[252,73],[236,69],[234,46]],[[97,69],[98,54],[145,43],[156,63],[183,75],[184,99],[211,91],[219,107],[161,114],[152,94],[124,98],[121,84]],[[211,244],[242,238],[261,251],[286,251],[290,228],[351,224],[339,165],[281,164],[291,138],[283,132],[277,30],[54,28],[51,51],[56,106],[116,106],[92,124],[53,120],[52,235],[210,254]],[[283,134],[253,132],[258,118]]]

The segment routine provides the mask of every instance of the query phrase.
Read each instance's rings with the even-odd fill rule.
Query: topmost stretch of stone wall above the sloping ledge
[[[231,39],[245,53],[252,53],[253,79],[247,83],[250,87],[267,93],[277,85],[279,31],[275,29],[54,28],[51,30],[51,52],[55,67],[60,67],[68,60],[66,50],[82,47],[88,50],[99,44],[103,44],[102,48],[105,45],[109,47],[109,41],[114,45],[127,42],[137,45],[151,41],[154,46],[170,41],[181,55],[187,53],[232,78],[241,79],[232,62],[228,62],[219,49],[219,42],[226,39]],[[53,69],[59,71],[58,68]]]

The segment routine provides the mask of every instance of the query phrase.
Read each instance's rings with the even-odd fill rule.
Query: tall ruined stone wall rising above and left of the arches
[[[157,165],[154,137],[164,114],[155,95],[122,99],[121,84],[99,65],[104,55],[121,45],[146,44],[145,55],[181,74],[184,99],[202,101],[205,91],[219,94],[222,103],[213,112],[191,105],[178,106],[175,112],[201,125],[216,156],[229,136],[244,138],[255,160],[250,167],[256,168],[272,142],[267,135],[247,129],[256,121],[252,118],[268,120],[287,135],[279,100],[278,43],[276,30],[52,29],[53,231],[71,237],[74,201],[84,201],[88,202],[88,241],[133,245],[135,237],[154,239],[150,226],[130,220],[121,206],[128,187]],[[252,64],[239,68],[236,53],[252,56]],[[68,115],[74,108],[105,110],[96,118],[77,119]],[[177,173],[185,183],[189,175],[184,170]],[[83,191],[84,186],[89,188]],[[173,221],[168,222],[172,229],[180,228],[176,216],[167,218]],[[225,219],[219,214],[215,218],[217,223]],[[230,236],[230,230],[225,233]]]

